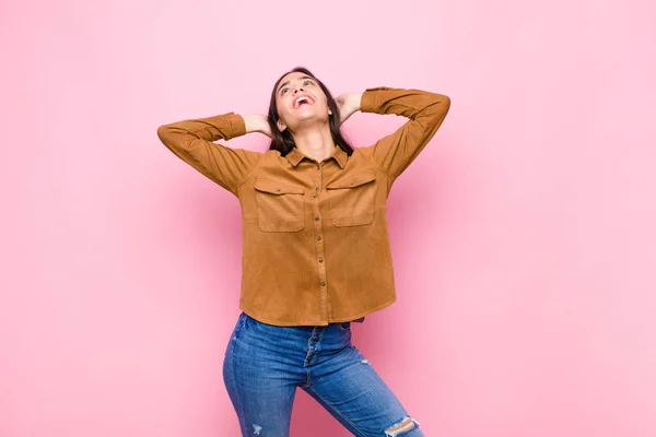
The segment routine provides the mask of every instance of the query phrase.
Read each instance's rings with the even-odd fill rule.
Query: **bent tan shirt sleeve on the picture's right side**
[[[362,113],[395,114],[409,120],[364,152],[391,178],[397,178],[433,138],[450,106],[448,96],[387,86],[366,88]],[[368,149],[368,150],[367,150]]]

